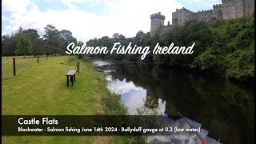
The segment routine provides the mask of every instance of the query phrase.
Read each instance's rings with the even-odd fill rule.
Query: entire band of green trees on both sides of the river
[[[82,42],[72,36],[69,30],[45,27],[46,34],[39,38],[37,30],[18,30],[16,34],[2,36],[2,55],[14,54],[65,54],[66,46]],[[90,57],[107,58],[129,62],[153,62],[157,65],[178,66],[193,70],[218,74],[239,80],[254,79],[254,17],[210,22],[190,21],[184,26],[174,26],[166,34],[150,38],[150,32],[138,31],[135,37],[126,38],[122,34],[90,39],[86,46],[106,46],[111,49],[114,42],[128,46],[150,46],[152,52],[160,46],[191,46],[195,42],[193,54],[147,54],[142,61],[140,54],[90,54]],[[29,49],[28,49],[29,48]],[[79,54],[78,57],[84,57]]]

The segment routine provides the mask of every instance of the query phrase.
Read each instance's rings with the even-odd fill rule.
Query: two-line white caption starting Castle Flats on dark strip
[[[2,135],[154,135],[200,133],[164,125],[165,116],[2,115]]]

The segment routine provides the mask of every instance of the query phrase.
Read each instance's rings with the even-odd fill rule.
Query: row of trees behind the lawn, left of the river
[[[2,55],[26,54],[65,54],[70,42],[77,43],[70,30],[57,30],[55,26],[47,25],[45,35],[40,38],[34,29],[18,29],[15,34],[2,36]]]

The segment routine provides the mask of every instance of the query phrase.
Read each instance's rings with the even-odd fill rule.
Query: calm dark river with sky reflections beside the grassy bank
[[[131,115],[146,101],[158,106],[173,126],[201,126],[207,143],[254,143],[254,86],[208,74],[166,70],[149,64],[91,60],[105,74],[110,91],[120,94]],[[195,134],[151,136],[152,143],[198,143]]]

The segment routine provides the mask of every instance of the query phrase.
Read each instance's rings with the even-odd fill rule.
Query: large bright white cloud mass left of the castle
[[[162,2],[158,2],[158,0],[120,0],[118,2],[93,0],[91,2],[104,2],[108,6],[106,14],[99,15],[76,9],[42,12],[38,10],[38,6],[33,1],[25,1],[26,4],[22,4],[22,6],[14,6],[13,4],[16,4],[17,1],[13,3],[9,1],[2,2],[5,3],[5,10],[12,12],[9,27],[6,29],[7,34],[17,30],[19,26],[24,29],[34,28],[38,30],[39,34],[43,34],[43,27],[52,24],[58,30],[70,30],[74,37],[82,42],[86,42],[90,38],[102,38],[106,35],[111,37],[116,32],[124,34],[126,37],[134,37],[138,30],[150,31],[150,14],[161,11],[162,14],[166,15],[167,23],[167,21],[171,21],[171,13],[176,8],[182,8],[174,0],[162,0]],[[75,0],[71,2],[70,0],[62,0],[62,2],[66,2],[66,5],[70,4],[70,8],[77,2],[89,1]],[[15,10],[19,10],[19,12]]]

